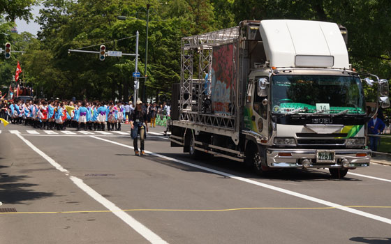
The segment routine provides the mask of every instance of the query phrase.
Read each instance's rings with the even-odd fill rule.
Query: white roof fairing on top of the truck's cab
[[[348,50],[335,23],[263,20],[260,36],[269,66],[349,68]]]

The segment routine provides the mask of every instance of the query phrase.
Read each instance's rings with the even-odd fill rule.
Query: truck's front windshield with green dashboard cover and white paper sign
[[[275,114],[365,114],[364,91],[358,77],[275,75],[271,89]]]

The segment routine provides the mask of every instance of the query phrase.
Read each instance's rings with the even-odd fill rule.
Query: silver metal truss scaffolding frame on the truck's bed
[[[239,104],[238,72],[236,61],[239,57],[239,26],[196,36],[182,38],[181,48],[181,93],[179,98],[179,120],[195,123],[197,125],[209,125],[214,128],[226,129],[233,132],[239,131]],[[233,73],[231,82],[233,89],[230,91],[230,115],[206,112],[202,105],[205,99],[210,98],[211,89],[205,88],[205,73],[209,74],[209,84],[212,84],[212,56],[213,47],[233,43]],[[198,61],[194,66],[193,62]],[[197,70],[194,70],[197,68]],[[205,72],[205,73],[204,73]],[[193,77],[197,75],[198,77]]]

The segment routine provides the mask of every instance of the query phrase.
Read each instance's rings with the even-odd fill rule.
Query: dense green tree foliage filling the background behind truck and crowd
[[[6,14],[3,2],[8,6],[31,7],[37,1],[0,0],[0,13]],[[138,70],[145,75],[147,3],[150,4],[148,97],[169,96],[171,84],[179,82],[183,36],[228,28],[242,20],[337,22],[348,29],[353,67],[391,78],[391,1],[388,0],[46,0],[37,20],[41,26],[37,39],[23,33],[22,37],[13,35],[9,31],[12,25],[4,17],[0,20],[0,40],[12,41],[13,47],[27,50],[22,57],[13,55],[6,62],[0,59],[1,82],[9,82],[20,59],[25,80],[46,97],[126,100],[133,93],[133,57],[108,56],[102,62],[98,61],[98,54],[68,54],[68,49],[95,45],[85,49],[98,51],[101,43],[134,36],[139,31]],[[29,11],[23,13],[27,18],[30,16]],[[117,20],[119,15],[128,19]],[[105,45],[108,50],[135,53],[135,38]],[[369,100],[374,100],[375,91],[376,87],[366,87]]]

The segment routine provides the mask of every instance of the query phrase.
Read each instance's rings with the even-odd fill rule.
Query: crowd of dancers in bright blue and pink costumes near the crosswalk
[[[73,102],[45,100],[15,100],[8,105],[12,123],[24,123],[44,130],[121,130],[126,119],[122,102]]]

